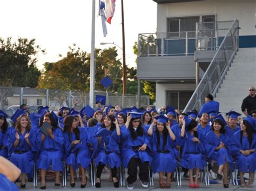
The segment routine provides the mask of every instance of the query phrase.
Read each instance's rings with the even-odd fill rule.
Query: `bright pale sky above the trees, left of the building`
[[[60,60],[74,43],[87,53],[91,52],[92,0],[0,0],[0,37],[36,39],[36,44],[46,50],[38,54],[37,67],[43,63]],[[101,18],[96,0],[95,47],[108,48],[114,43],[122,47],[121,0],[116,0],[116,10],[107,36],[103,36]],[[124,0],[124,26],[126,65],[136,67],[136,55],[132,46],[139,33],[155,33],[157,26],[157,3],[152,0]],[[122,50],[118,48],[122,61]],[[96,63],[97,64],[97,63]]]

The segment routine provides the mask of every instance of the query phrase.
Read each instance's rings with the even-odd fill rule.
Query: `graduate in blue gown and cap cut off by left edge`
[[[7,152],[7,141],[8,141],[8,123],[6,121],[6,118],[8,117],[5,112],[0,110],[0,156],[7,158],[8,152]]]

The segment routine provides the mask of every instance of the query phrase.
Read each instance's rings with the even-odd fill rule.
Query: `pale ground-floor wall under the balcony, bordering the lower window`
[[[191,83],[156,83],[156,108],[166,105],[166,91],[168,90],[194,90],[195,84]]]

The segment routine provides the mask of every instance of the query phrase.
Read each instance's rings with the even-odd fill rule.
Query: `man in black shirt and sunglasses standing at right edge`
[[[251,115],[256,110],[256,96],[253,86],[249,88],[249,95],[242,100],[241,110],[245,115]]]

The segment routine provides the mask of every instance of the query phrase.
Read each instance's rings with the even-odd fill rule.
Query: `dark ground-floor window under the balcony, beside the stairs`
[[[184,110],[194,91],[166,91],[166,103],[174,108]]]

